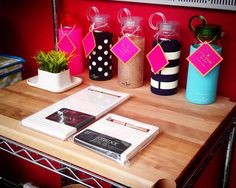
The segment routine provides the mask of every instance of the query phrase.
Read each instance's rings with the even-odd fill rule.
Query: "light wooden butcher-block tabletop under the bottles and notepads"
[[[0,135],[101,176],[131,187],[152,187],[163,179],[175,181],[200,152],[235,103],[217,97],[211,105],[195,105],[185,99],[185,90],[173,96],[157,96],[149,83],[137,89],[125,89],[117,78],[92,81],[88,73],[80,76],[83,83],[64,93],[51,93],[31,87],[26,81],[0,90]],[[116,113],[160,127],[158,137],[129,163],[120,165],[71,141],[61,141],[20,125],[20,120],[87,87],[96,85],[132,94],[118,106]]]

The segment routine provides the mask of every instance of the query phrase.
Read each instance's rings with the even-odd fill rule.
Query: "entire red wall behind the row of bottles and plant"
[[[180,87],[186,86],[187,66],[186,57],[189,54],[189,45],[193,34],[188,29],[188,20],[193,15],[203,15],[209,23],[222,25],[225,36],[222,39],[223,58],[221,63],[218,94],[230,97],[236,101],[236,12],[223,10],[210,10],[199,8],[184,8],[163,5],[150,5],[138,3],[124,3],[98,0],[58,0],[59,17],[70,13],[77,19],[84,29],[84,35],[89,27],[86,19],[86,10],[96,6],[101,13],[112,15],[112,28],[117,38],[119,24],[117,11],[129,8],[132,15],[143,16],[145,19],[144,31],[146,35],[146,52],[151,49],[154,32],[148,26],[149,16],[161,11],[168,20],[179,21],[182,38],[182,57],[180,69]],[[115,39],[116,40],[116,39]],[[26,59],[24,77],[37,74],[37,65],[33,56],[38,50],[53,49],[52,6],[49,0],[7,0],[0,1],[0,53],[18,55]],[[149,64],[146,62],[145,77],[149,78]],[[235,156],[235,155],[234,155]],[[217,164],[216,164],[217,165]],[[234,168],[235,172],[235,159]],[[231,179],[232,180],[232,179]],[[235,181],[231,182],[232,187]]]

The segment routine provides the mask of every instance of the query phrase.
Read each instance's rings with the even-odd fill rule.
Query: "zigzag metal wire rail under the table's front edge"
[[[0,136],[0,150],[3,150],[21,159],[29,161],[42,168],[57,173],[61,177],[68,178],[76,183],[82,184],[89,188],[103,188],[104,184],[110,185],[112,188],[126,187],[122,184],[111,181],[102,176],[89,172],[83,168],[77,167],[58,158],[49,156],[33,148],[27,147],[23,144],[12,141],[2,136]],[[86,177],[81,177],[81,174],[84,174]]]

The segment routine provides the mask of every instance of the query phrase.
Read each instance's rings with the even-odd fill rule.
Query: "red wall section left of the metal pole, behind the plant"
[[[24,58],[25,78],[37,74],[36,52],[52,48],[51,1],[0,1],[0,53]]]

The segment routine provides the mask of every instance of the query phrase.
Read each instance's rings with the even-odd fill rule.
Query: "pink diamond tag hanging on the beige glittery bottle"
[[[112,48],[112,53],[123,63],[130,61],[140,49],[128,37],[122,37]]]

